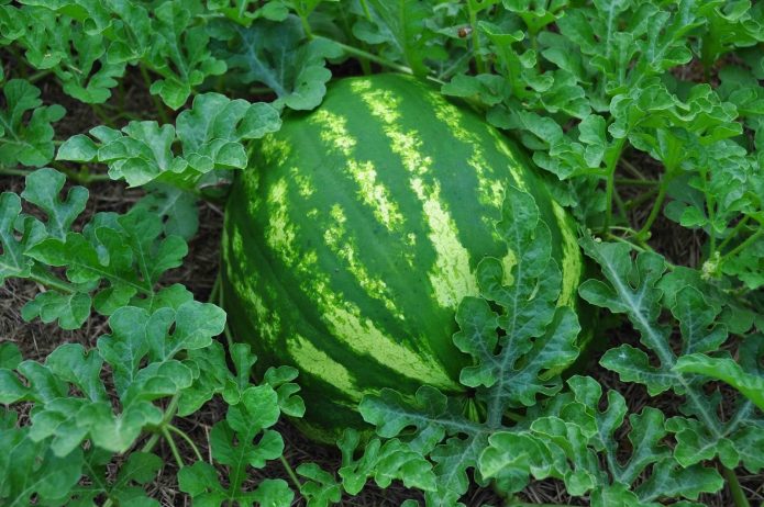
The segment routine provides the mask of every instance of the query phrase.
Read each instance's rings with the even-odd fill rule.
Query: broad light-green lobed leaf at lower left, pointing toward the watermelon
[[[29,388],[8,375],[7,370],[0,370],[3,392],[11,395],[3,401],[37,402],[30,438],[49,439],[56,455],[68,455],[86,439],[100,449],[124,452],[146,427],[159,425],[163,413],[151,402],[179,394],[192,382],[191,370],[175,357],[209,347],[212,336],[223,329],[224,313],[211,304],[193,301],[177,311],[164,307],[153,314],[125,306],[114,312],[109,325],[112,334],[98,340],[97,351],[86,352],[80,345],[70,343],[54,350],[44,365],[33,361],[20,363],[18,372],[26,379]],[[119,395],[118,413],[101,379],[104,361]],[[68,395],[69,385],[80,395]],[[278,405],[274,405],[278,418]],[[265,413],[257,408],[264,407],[251,410],[262,417]],[[273,425],[273,415],[267,417],[268,425]]]

